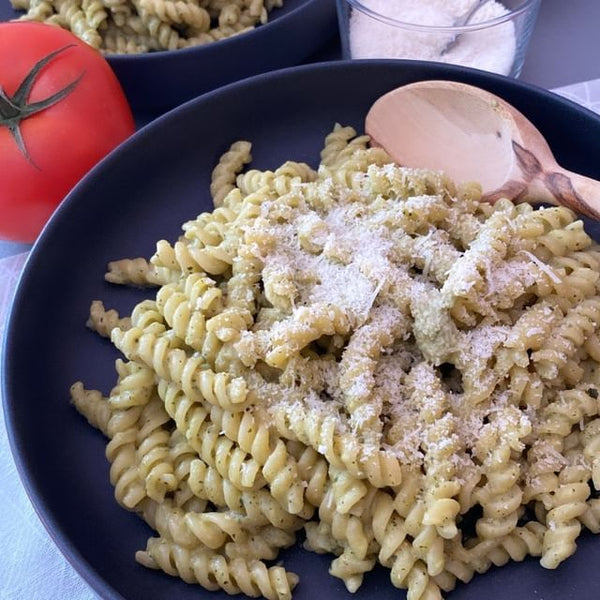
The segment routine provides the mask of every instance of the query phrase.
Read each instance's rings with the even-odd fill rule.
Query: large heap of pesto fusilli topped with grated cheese
[[[157,532],[137,560],[287,599],[282,548],[376,564],[411,600],[600,531],[600,250],[567,208],[479,201],[350,127],[317,169],[214,169],[215,209],[149,258],[155,286],[88,325],[123,354],[72,387],[109,438],[117,501]]]

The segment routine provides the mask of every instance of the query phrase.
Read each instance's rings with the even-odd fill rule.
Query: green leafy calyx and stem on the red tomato
[[[58,92],[51,94],[43,100],[38,100],[37,102],[29,103],[31,89],[33,88],[37,76],[40,74],[40,71],[61,52],[64,52],[72,46],[74,46],[74,44],[69,44],[68,46],[63,46],[58,50],[54,50],[36,62],[12,96],[9,96],[0,85],[0,127],[8,128],[19,147],[19,150],[31,164],[34,164],[34,162],[27,151],[27,146],[25,145],[25,141],[21,134],[21,122],[66,98],[77,87],[83,77],[83,73],[64,88],[58,90]]]

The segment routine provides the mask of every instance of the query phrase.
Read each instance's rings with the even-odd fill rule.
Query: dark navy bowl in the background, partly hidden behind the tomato
[[[0,2],[0,21],[18,15],[9,0]],[[233,81],[300,64],[337,34],[335,0],[285,0],[269,18],[205,46],[107,59],[134,112],[154,116]]]

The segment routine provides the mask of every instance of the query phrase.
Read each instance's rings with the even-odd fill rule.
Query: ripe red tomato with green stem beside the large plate
[[[0,23],[0,238],[32,242],[73,185],[133,131],[97,50],[52,25]]]

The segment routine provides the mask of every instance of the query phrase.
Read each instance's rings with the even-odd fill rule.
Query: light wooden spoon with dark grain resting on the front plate
[[[478,181],[489,202],[547,202],[600,219],[600,182],[559,166],[530,121],[480,88],[454,81],[399,87],[373,104],[365,130],[398,164]]]

